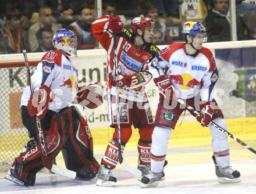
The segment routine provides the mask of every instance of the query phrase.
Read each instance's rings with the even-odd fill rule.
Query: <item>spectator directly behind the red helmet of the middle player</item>
[[[154,29],[161,31],[162,33],[162,43],[163,44],[170,44],[172,42],[172,38],[169,35],[169,31],[165,26],[165,23],[162,23],[158,20],[158,5],[155,2],[147,1],[145,3],[145,12],[146,17],[150,17],[154,20],[155,27]]]

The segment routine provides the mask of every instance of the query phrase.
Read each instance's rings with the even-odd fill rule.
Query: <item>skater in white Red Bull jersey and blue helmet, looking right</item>
[[[227,135],[209,124],[214,121],[227,130],[223,114],[214,99],[218,80],[214,56],[209,49],[202,47],[202,43],[207,41],[205,27],[197,21],[188,21],[184,23],[182,33],[186,42],[170,44],[149,64],[160,100],[152,134],[151,172],[141,179],[141,187],[157,186],[162,178],[168,142],[184,111],[184,107],[172,98],[173,95],[185,99],[187,104],[201,113],[204,112],[204,116],[198,115],[196,119],[211,131],[214,150],[212,159],[218,182],[240,182],[239,171],[232,170],[230,166]],[[193,112],[191,114],[194,115]]]

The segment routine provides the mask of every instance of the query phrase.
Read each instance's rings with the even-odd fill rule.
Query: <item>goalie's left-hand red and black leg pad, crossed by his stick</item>
[[[65,125],[67,127],[64,127]],[[68,127],[69,121],[65,121],[65,118],[61,115],[55,114],[52,117],[51,127],[45,138],[45,147],[50,159],[54,159],[61,151],[66,139]],[[15,177],[17,180],[23,182],[24,185],[34,185],[35,174],[40,171],[42,167],[44,166],[42,165],[39,145],[33,146],[15,159],[8,172],[10,176],[7,175],[6,178]]]

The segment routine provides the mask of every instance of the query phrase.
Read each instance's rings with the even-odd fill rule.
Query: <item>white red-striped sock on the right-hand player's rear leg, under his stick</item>
[[[227,125],[223,118],[215,118],[213,121],[227,131]],[[212,134],[212,149],[214,150],[216,163],[225,168],[230,165],[229,142],[227,140],[227,135],[215,128],[213,125],[209,125],[209,128]]]

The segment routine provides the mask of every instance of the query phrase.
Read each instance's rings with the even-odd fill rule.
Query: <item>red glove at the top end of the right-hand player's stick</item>
[[[162,75],[160,77],[154,78],[154,82],[159,89],[160,100],[172,99],[174,87],[168,76]]]

